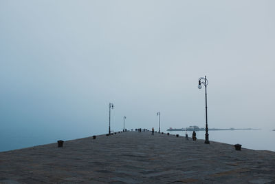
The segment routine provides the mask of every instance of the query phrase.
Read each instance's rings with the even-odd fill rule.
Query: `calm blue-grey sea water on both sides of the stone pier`
[[[167,132],[167,131],[164,131]],[[197,131],[198,139],[205,139],[204,131]],[[96,133],[95,133],[96,134]],[[99,133],[103,134],[103,133]],[[185,132],[171,131],[170,134],[179,134],[185,136]],[[78,139],[91,134],[12,134],[11,132],[2,132],[0,135],[0,152],[15,150],[23,147],[32,147],[35,145],[43,145],[48,143],[56,143],[58,139],[64,141],[70,139]],[[188,136],[192,136],[192,132],[188,131]],[[275,131],[272,130],[222,130],[209,131],[209,140],[222,143],[236,144],[252,150],[270,150],[275,152]]]

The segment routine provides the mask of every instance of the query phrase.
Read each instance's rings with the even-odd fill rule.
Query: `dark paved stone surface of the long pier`
[[[275,152],[124,132],[0,152],[0,183],[275,183]]]

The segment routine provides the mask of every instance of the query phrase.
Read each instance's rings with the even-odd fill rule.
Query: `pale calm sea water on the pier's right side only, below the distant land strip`
[[[170,131],[169,133],[185,136],[185,131]],[[196,134],[197,139],[205,139],[205,131],[197,131]],[[212,130],[208,134],[210,141],[232,145],[239,143],[248,149],[275,152],[275,131],[272,130]],[[191,131],[188,131],[188,136],[192,136]]]

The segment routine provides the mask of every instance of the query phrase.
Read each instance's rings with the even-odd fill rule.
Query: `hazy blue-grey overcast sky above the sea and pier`
[[[1,0],[0,131],[204,127],[204,75],[209,127],[274,129],[274,6]]]

